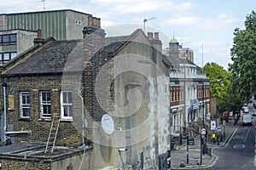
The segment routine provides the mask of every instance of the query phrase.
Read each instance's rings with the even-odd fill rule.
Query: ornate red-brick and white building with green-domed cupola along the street
[[[203,118],[205,127],[208,126],[207,120],[210,119],[210,80],[201,68],[190,60],[194,59],[193,50],[182,48],[176,39],[170,41],[168,50],[166,58],[172,63],[170,69],[172,135],[185,135],[189,131],[199,133]]]

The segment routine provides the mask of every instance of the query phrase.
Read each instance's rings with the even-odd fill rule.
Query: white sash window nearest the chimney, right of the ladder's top
[[[73,119],[72,92],[61,92],[61,118]]]

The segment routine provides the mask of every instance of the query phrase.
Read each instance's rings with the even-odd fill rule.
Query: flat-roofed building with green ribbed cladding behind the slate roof
[[[35,37],[82,39],[84,26],[100,27],[100,19],[71,9],[0,14],[0,64],[31,48]]]

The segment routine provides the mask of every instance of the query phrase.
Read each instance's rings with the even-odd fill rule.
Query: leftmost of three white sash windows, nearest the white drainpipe
[[[20,92],[20,117],[30,117],[30,93]]]

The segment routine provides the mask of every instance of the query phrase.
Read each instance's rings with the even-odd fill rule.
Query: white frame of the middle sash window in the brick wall
[[[43,94],[49,95],[49,100],[43,99]],[[44,113],[44,106],[49,107],[49,113]],[[40,115],[42,118],[51,118],[51,95],[50,91],[41,91],[40,92]],[[48,111],[48,110],[47,110]]]

